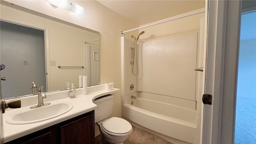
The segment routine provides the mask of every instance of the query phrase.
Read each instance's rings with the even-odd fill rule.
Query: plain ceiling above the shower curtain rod
[[[204,8],[204,0],[98,0],[140,26]]]

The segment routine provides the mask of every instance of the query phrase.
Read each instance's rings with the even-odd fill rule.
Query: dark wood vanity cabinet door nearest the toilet
[[[60,126],[61,144],[94,144],[94,115]]]

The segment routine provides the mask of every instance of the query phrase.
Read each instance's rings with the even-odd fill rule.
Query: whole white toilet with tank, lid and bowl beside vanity
[[[99,126],[102,140],[100,144],[123,144],[128,134],[132,132],[132,125],[122,118],[107,118],[112,114],[114,96],[109,94],[96,98],[93,102],[95,109],[95,123]]]

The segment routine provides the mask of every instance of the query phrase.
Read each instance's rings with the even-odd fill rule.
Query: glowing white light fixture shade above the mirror
[[[78,15],[84,14],[84,8],[69,0],[46,0],[50,4],[68,10]]]

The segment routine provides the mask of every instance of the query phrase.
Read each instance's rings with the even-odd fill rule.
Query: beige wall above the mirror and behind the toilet
[[[136,28],[138,24],[94,0],[75,1],[84,7],[84,15],[82,16],[76,16],[66,10],[54,8],[44,0],[7,1],[100,32],[100,82],[101,84],[114,82],[115,88],[121,88],[121,31]],[[138,31],[130,32],[127,36],[131,34],[137,35]],[[120,117],[121,92],[114,95],[112,116]]]

